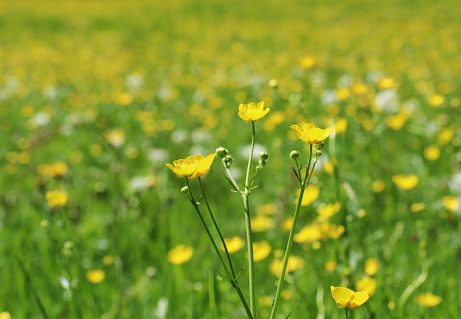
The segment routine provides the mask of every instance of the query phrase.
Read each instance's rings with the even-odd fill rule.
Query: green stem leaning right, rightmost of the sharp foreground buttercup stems
[[[275,314],[277,313],[278,303],[280,301],[280,295],[282,293],[282,289],[283,289],[283,285],[284,285],[285,272],[287,270],[288,259],[290,258],[291,246],[293,245],[293,238],[295,237],[296,224],[298,223],[299,211],[301,209],[302,196],[304,195],[304,189],[306,188],[307,182],[310,179],[310,175],[312,175],[312,174],[308,174],[309,167],[310,167],[310,164],[311,164],[311,159],[312,159],[312,144],[311,144],[311,152],[309,154],[309,164],[308,164],[308,167],[307,167],[306,175],[304,176],[304,182],[302,183],[302,185],[300,187],[298,203],[297,203],[296,209],[295,209],[295,216],[293,217],[293,224],[291,224],[290,237],[288,238],[287,249],[285,251],[284,264],[282,266],[282,272],[280,273],[280,278],[278,279],[277,292],[275,294],[274,305],[272,307],[271,319],[275,319]],[[315,163],[313,164],[313,166],[314,165],[315,165]]]

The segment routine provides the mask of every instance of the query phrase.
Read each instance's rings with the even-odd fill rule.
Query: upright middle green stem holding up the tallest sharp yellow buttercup
[[[254,150],[254,122],[251,122],[253,129],[253,135],[251,139],[251,152],[248,159],[247,176],[245,179],[245,185],[249,187],[248,182],[250,179],[250,168],[251,160],[253,159]],[[256,297],[254,293],[254,259],[253,259],[253,237],[251,235],[251,219],[250,219],[250,207],[248,204],[248,196],[250,195],[250,189],[246,188],[243,195],[243,206],[245,207],[245,226],[247,230],[247,245],[248,245],[248,273],[249,273],[249,289],[250,289],[250,308],[253,317],[256,318]]]

